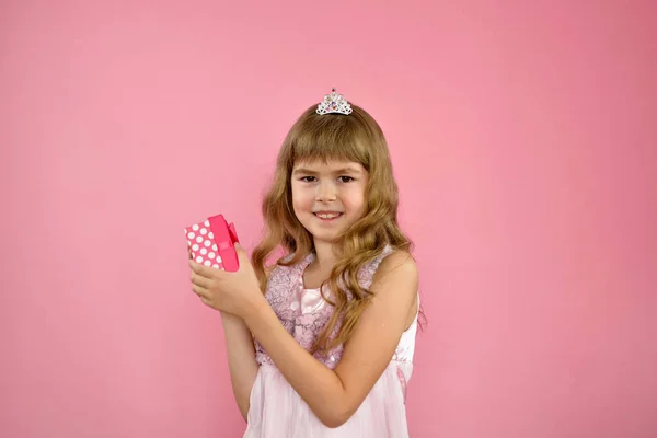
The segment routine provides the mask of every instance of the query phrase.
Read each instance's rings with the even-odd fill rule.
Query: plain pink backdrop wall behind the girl
[[[412,436],[657,436],[655,2],[397,3],[0,3],[0,436],[241,436],[183,227],[252,247],[333,85],[417,245]]]

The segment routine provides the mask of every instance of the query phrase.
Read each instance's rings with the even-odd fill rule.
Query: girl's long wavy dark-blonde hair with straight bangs
[[[360,163],[369,174],[366,186],[366,214],[341,237],[342,255],[335,263],[328,283],[332,297],[323,298],[335,307],[333,315],[315,341],[311,353],[327,351],[347,342],[358,318],[369,304],[372,293],[358,284],[358,272],[380,255],[387,245],[411,251],[411,241],[397,223],[397,185],[392,172],[388,142],[379,124],[361,107],[351,104],[353,113],[319,115],[309,107],[288,132],[280,152],[272,187],[263,199],[265,233],[252,254],[252,262],[266,289],[266,261],[283,249],[285,255],[276,265],[290,266],[314,251],[312,234],[299,222],[292,208],[291,174],[296,163],[350,161]],[[288,255],[293,254],[291,257]],[[342,280],[339,280],[342,279]],[[332,333],[344,315],[336,335]]]

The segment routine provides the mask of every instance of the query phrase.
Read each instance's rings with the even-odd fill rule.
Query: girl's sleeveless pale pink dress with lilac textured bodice
[[[364,266],[358,276],[361,286],[368,288],[371,285],[379,264],[390,253],[392,249],[387,247],[383,254]],[[309,254],[293,266],[277,266],[265,291],[285,328],[307,350],[333,313],[333,307],[322,298],[319,289],[303,288],[303,270],[313,258],[314,254]],[[339,328],[339,322],[333,335]],[[256,341],[260,369],[251,391],[244,438],[408,437],[405,393],[413,372],[416,332],[417,314],[362,404],[344,425],[333,429],[320,422]],[[327,354],[315,353],[314,357],[333,369],[342,353],[343,345],[339,345]]]

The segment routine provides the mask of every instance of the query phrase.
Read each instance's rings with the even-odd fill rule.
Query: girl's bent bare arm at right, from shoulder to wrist
[[[406,253],[395,252],[381,263],[370,287],[372,302],[335,370],[303,349],[269,306],[257,306],[245,322],[318,418],[338,427],[358,410],[392,359],[415,302],[417,277],[415,262]]]

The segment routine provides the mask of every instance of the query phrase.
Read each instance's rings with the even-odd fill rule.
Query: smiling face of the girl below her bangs
[[[292,169],[292,204],[297,219],[318,241],[336,238],[366,214],[368,172],[349,161],[302,161]]]

